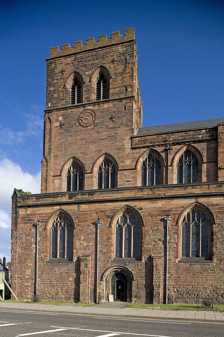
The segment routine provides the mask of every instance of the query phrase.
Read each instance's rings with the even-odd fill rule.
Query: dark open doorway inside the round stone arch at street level
[[[127,302],[127,277],[123,273],[115,273],[112,276],[111,293],[114,301]]]

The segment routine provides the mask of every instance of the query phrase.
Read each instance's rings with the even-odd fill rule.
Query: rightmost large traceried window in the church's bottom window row
[[[181,257],[209,258],[211,223],[204,211],[192,208],[181,224]]]

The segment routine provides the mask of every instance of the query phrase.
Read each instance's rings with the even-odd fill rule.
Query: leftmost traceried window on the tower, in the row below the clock
[[[83,190],[83,171],[79,164],[72,163],[66,174],[67,192]]]

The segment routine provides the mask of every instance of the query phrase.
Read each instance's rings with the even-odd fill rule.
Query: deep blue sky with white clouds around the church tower
[[[13,188],[40,191],[49,48],[135,28],[143,126],[223,116],[223,0],[0,0],[0,257]]]

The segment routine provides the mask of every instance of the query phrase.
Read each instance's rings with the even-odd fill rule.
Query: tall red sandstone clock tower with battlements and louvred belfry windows
[[[130,164],[130,137],[142,126],[137,61],[133,28],[50,49],[41,193],[66,191],[65,175],[74,158],[85,170],[83,189],[96,189],[94,165],[102,148],[108,157],[113,153],[120,168]],[[121,171],[115,186],[136,186],[126,178]]]

